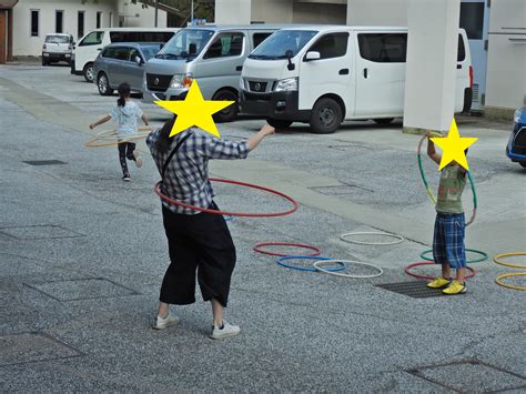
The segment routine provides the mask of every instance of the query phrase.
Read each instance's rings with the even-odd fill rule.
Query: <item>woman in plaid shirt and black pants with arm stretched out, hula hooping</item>
[[[169,138],[175,118],[152,132],[146,144],[163,176],[161,191],[174,200],[199,208],[219,210],[209,181],[210,159],[245,159],[274,128],[265,124],[247,141],[234,142],[213,138],[200,130],[185,130]],[[179,149],[176,148],[179,145]],[[170,304],[195,302],[195,272],[204,301],[211,301],[212,339],[237,335],[241,330],[223,320],[235,265],[235,246],[225,220],[220,214],[200,212],[162,201],[164,230],[171,264],[161,286],[159,314],[153,329],[163,330],[179,323]]]

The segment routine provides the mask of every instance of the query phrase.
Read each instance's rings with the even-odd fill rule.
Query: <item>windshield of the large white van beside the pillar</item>
[[[311,39],[317,34],[314,30],[280,30],[269,37],[251,54],[250,59],[285,59],[286,52],[295,57]]]

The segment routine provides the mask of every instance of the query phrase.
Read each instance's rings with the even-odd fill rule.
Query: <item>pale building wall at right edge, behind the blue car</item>
[[[510,119],[526,105],[526,1],[492,1],[485,111]]]

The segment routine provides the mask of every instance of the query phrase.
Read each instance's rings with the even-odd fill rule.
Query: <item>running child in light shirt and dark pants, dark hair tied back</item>
[[[108,115],[95,123],[90,124],[90,129],[93,130],[99,124],[103,124],[113,119],[119,122],[119,128],[117,130],[118,138],[125,139],[127,135],[133,135],[138,133],[138,123],[140,119],[145,125],[148,125],[148,119],[139,105],[130,100],[131,88],[129,83],[121,83],[119,85],[118,92],[119,99],[117,100],[117,107],[113,108]],[[130,172],[128,171],[127,159],[133,160],[138,168],[142,165],[142,160],[139,158],[139,152],[135,151],[134,143],[121,142],[118,144],[118,148],[119,160],[121,162],[122,169],[122,180],[129,182]]]

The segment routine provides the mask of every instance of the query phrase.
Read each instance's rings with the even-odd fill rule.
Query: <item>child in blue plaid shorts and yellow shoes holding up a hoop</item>
[[[442,154],[427,132],[427,155],[437,164]],[[467,150],[466,150],[467,151]],[[444,294],[466,293],[466,250],[464,246],[465,218],[462,205],[462,193],[466,185],[466,170],[456,162],[451,162],[441,173],[436,202],[435,233],[433,236],[433,257],[442,264],[442,276],[427,283],[432,289],[444,289]],[[456,270],[456,279],[452,281],[451,269]]]

